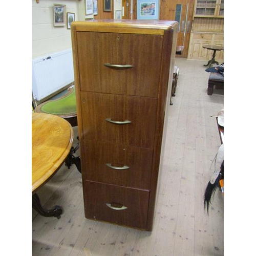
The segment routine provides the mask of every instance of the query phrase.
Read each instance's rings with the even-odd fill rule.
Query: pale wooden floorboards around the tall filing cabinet
[[[81,174],[75,166],[63,165],[38,195],[46,207],[58,204],[64,212],[56,219],[32,209],[33,256],[224,255],[221,191],[217,189],[209,215],[203,205],[221,145],[212,115],[224,108],[223,90],[207,95],[204,61],[176,58],[175,64],[180,74],[168,107],[153,231],[84,218]]]

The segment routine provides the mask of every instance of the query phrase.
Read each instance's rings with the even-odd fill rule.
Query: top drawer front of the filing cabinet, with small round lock
[[[77,38],[81,91],[158,97],[162,36],[78,32]]]

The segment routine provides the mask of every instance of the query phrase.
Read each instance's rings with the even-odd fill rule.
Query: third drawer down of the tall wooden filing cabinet
[[[94,141],[84,144],[86,180],[150,188],[153,150]]]

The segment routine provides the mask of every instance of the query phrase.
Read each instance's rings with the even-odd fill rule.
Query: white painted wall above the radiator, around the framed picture
[[[66,5],[75,20],[84,20],[84,0],[32,0],[32,58],[72,47],[70,29],[53,26],[53,4]]]

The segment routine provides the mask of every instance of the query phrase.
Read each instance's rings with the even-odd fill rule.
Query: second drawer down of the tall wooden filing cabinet
[[[154,147],[157,99],[81,92],[83,136],[86,140]],[[115,124],[113,121],[131,121]]]

